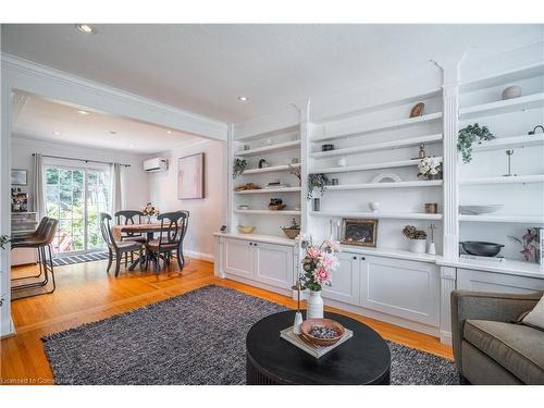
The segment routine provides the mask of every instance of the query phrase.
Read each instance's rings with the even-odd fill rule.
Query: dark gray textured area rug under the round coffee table
[[[207,286],[42,341],[57,384],[244,384],[246,333],[284,310]],[[388,345],[392,384],[458,384],[452,361]]]

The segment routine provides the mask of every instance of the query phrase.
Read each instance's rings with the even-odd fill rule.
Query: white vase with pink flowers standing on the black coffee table
[[[331,272],[338,267],[338,258],[335,254],[339,250],[339,246],[331,240],[314,246],[311,236],[301,237],[299,244],[305,250],[300,281],[304,287],[310,289],[306,319],[322,319],[323,299],[321,298],[321,289],[323,285],[331,285]]]

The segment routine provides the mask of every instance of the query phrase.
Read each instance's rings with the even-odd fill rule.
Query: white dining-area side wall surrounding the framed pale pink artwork
[[[205,153],[205,198],[177,199],[177,159]],[[150,173],[151,201],[161,212],[188,210],[189,230],[185,237],[186,254],[213,260],[213,236],[226,221],[225,143],[202,140],[161,154],[169,159],[166,172]]]

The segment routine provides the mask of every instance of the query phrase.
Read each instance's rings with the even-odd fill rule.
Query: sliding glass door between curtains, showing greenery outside
[[[99,213],[109,208],[109,172],[51,165],[46,168],[45,177],[47,214],[59,220],[54,251],[103,248]]]

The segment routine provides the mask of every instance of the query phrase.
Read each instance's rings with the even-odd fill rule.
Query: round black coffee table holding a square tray
[[[325,318],[354,336],[319,359],[280,337],[293,325],[294,311],[255,323],[246,337],[247,384],[388,384],[391,354],[385,341],[354,319],[326,312]]]

